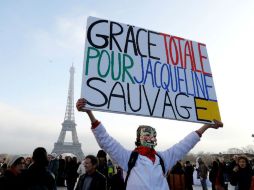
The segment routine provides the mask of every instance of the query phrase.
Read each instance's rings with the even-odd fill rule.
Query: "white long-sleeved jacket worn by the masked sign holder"
[[[92,129],[92,131],[99,146],[127,172],[128,161],[132,151],[126,150],[115,139],[109,136],[102,124]],[[198,134],[192,132],[171,148],[165,151],[158,151],[157,153],[164,161],[165,171],[171,169],[178,160],[181,160],[199,140]],[[139,155],[135,167],[131,170],[126,189],[169,190],[167,179],[163,176],[159,157],[156,156],[153,163],[146,156]]]

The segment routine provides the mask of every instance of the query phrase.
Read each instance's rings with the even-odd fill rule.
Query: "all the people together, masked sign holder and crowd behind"
[[[66,186],[67,190],[193,189],[193,164],[186,161],[183,165],[180,160],[206,130],[223,126],[221,121],[213,120],[168,149],[156,151],[155,128],[140,125],[136,131],[136,148],[127,150],[107,133],[93,112],[86,109],[87,104],[85,99],[79,99],[76,107],[87,113],[92,123],[91,130],[101,148],[96,156],[87,155],[78,162],[76,157],[62,158],[38,147],[31,158],[15,155],[1,164],[0,189],[56,190],[57,186]],[[195,170],[203,190],[207,190],[207,180],[215,190],[227,190],[228,182],[237,190],[252,188],[253,168],[249,160],[241,156],[229,165],[217,159],[208,167],[208,163],[198,158]]]

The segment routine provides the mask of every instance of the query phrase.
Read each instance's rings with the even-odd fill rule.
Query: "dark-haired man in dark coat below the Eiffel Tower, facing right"
[[[88,155],[85,157],[84,166],[86,173],[80,176],[75,190],[106,190],[106,177],[96,170],[98,159]]]

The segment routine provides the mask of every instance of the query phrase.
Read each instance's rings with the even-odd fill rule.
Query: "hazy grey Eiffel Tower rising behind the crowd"
[[[74,72],[73,66],[70,68],[70,82],[67,98],[67,106],[65,110],[64,122],[62,123],[62,130],[57,142],[54,144],[52,152],[57,155],[63,153],[72,153],[77,156],[78,160],[83,160],[84,153],[81,150],[81,144],[78,141],[75,117],[74,117]],[[65,142],[66,132],[72,133],[72,142]]]

